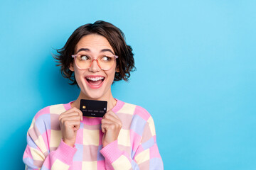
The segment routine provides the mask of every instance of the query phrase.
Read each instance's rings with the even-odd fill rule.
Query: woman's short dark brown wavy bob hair
[[[74,62],[71,55],[75,55],[75,46],[78,44],[80,39],[83,36],[90,34],[104,36],[108,42],[110,42],[110,45],[114,50],[114,54],[118,56],[117,68],[119,68],[119,72],[115,73],[114,81],[122,79],[124,79],[124,81],[128,81],[130,72],[133,72],[136,69],[134,66],[134,54],[132,53],[132,47],[126,44],[122,30],[105,21],[96,21],[95,23],[88,23],[84,26],[80,26],[73,32],[70,38],[68,38],[64,47],[57,50],[58,55],[53,55],[55,60],[60,63],[57,64],[57,66],[60,66],[60,72],[63,77],[70,79],[70,81],[72,81],[70,84],[78,85],[75,80],[74,72],[69,69],[70,64]]]

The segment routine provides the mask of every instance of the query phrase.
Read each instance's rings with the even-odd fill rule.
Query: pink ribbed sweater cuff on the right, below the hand
[[[100,150],[100,153],[105,157],[106,161],[110,162],[110,164],[122,155],[122,151],[118,149],[117,140],[114,140],[109,145],[103,147]]]

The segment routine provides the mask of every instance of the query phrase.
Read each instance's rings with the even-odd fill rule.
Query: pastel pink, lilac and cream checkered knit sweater
[[[71,102],[70,102],[71,103]],[[122,120],[118,139],[102,148],[102,118],[83,117],[75,146],[62,140],[58,117],[70,103],[36,113],[23,154],[26,169],[164,169],[151,115],[142,107],[117,100],[112,111]]]

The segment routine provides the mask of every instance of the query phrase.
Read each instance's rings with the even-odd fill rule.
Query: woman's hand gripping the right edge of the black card
[[[102,118],[102,147],[110,144],[114,140],[117,140],[119,132],[122,128],[122,121],[112,111],[108,111]]]

